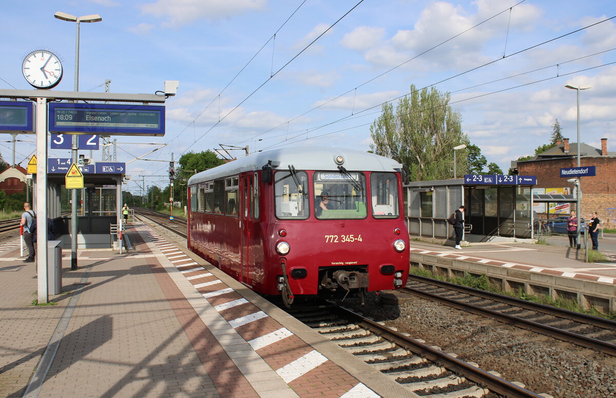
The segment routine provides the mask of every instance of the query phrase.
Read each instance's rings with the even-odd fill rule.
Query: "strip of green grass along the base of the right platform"
[[[591,307],[590,309],[584,309],[580,307],[578,303],[572,300],[564,300],[562,298],[557,298],[556,300],[553,300],[546,295],[529,295],[525,293],[522,289],[503,291],[500,287],[490,284],[490,279],[488,279],[485,274],[482,274],[479,277],[474,277],[471,276],[471,274],[464,273],[463,277],[450,278],[442,275],[434,275],[426,269],[415,267],[411,267],[409,272],[418,276],[437,279],[438,281],[451,282],[456,285],[468,286],[474,289],[484,290],[485,292],[497,293],[509,297],[519,298],[521,300],[532,301],[533,303],[545,304],[556,308],[567,309],[573,312],[580,312],[581,314],[588,314],[605,319],[616,320],[616,312],[601,312],[594,307]]]

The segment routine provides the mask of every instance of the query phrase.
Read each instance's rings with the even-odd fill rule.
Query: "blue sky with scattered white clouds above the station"
[[[36,49],[62,61],[54,90],[74,89],[75,23],[57,11],[102,17],[81,24],[79,90],[104,92],[109,79],[110,92],[152,94],[179,81],[164,137],[113,137],[119,162],[160,144],[128,165],[125,189],[135,194],[142,176],[166,174],[162,161],[220,144],[368,150],[381,105],[411,84],[450,92],[463,132],[505,172],[549,141],[554,119],[577,141],[567,84],[591,86],[580,92],[581,141],[600,148],[608,138],[616,151],[614,0],[4,0],[1,89],[31,89],[21,66]],[[10,162],[5,138],[0,153]],[[25,165],[35,137],[17,139]]]

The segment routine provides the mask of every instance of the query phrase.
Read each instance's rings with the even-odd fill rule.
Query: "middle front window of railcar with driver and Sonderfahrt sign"
[[[366,218],[365,176],[358,172],[315,172],[314,206],[319,220]]]

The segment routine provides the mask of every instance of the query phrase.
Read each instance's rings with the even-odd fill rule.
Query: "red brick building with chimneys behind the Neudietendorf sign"
[[[575,186],[560,175],[564,167],[577,167],[580,150],[580,165],[596,166],[597,175],[580,178],[582,187],[582,217],[590,218],[596,211],[604,228],[616,228],[616,152],[607,151],[607,138],[601,139],[601,149],[581,143],[569,143],[569,138],[559,140],[548,151],[528,161],[512,162],[520,175],[536,175],[535,188],[562,189],[554,193],[575,193]],[[567,188],[568,191],[567,191]],[[545,193],[548,193],[547,191]]]

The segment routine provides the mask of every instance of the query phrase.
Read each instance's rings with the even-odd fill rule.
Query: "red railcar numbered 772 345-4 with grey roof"
[[[344,297],[406,284],[402,165],[285,148],[188,181],[188,247],[255,292]]]

